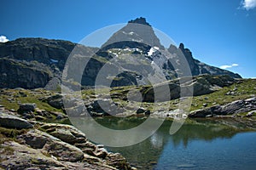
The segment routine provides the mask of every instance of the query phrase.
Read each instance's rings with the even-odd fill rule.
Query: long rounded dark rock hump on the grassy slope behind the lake
[[[180,84],[183,82],[183,84]],[[198,96],[202,94],[211,94],[212,92],[218,90],[218,88],[224,88],[230,86],[236,82],[236,79],[230,76],[211,76],[211,75],[202,75],[198,77],[193,77],[192,81],[186,81],[185,78],[175,79],[173,81],[162,83],[154,88],[144,87],[141,92],[143,94],[143,101],[145,102],[154,102],[154,94],[162,96],[160,101],[168,101],[170,99],[178,99],[180,97],[180,88],[183,87],[183,90],[193,89],[193,96]],[[171,96],[166,95],[166,87],[169,88]],[[183,93],[185,97],[186,94]],[[136,98],[135,98],[136,99]]]

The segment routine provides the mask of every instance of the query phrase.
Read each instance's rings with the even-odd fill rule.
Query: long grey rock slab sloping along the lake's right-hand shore
[[[241,99],[227,105],[213,105],[206,109],[191,111],[189,117],[229,116],[256,110],[256,98]]]

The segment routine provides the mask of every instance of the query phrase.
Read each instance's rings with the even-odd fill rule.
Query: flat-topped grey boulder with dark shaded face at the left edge
[[[10,116],[5,113],[0,113],[0,125],[7,128],[32,128],[32,124],[17,116]]]

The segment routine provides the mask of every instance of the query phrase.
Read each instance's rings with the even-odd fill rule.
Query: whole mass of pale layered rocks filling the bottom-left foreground
[[[0,124],[4,169],[136,169],[70,125],[25,120],[3,106]]]

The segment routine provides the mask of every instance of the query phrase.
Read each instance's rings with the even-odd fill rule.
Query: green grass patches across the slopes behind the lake
[[[97,99],[108,98],[108,94],[113,99],[113,102],[119,106],[125,106],[129,109],[143,107],[148,111],[160,111],[168,109],[173,111],[178,108],[179,99],[172,99],[171,101],[160,102],[160,103],[147,103],[139,101],[129,101],[127,102],[127,97],[133,95],[134,92],[141,93],[143,90],[147,90],[150,86],[125,86],[117,88],[84,88],[81,92],[84,99],[84,103],[93,102]],[[201,96],[195,96],[192,99],[192,105],[190,111],[195,111],[197,109],[210,107],[212,105],[225,105],[232,101],[238,99],[248,99],[256,94],[256,79],[241,79],[235,82],[230,87],[218,88],[212,94],[205,94]],[[48,112],[62,112],[61,109],[56,109],[49,105],[47,102],[43,102],[42,99],[58,94],[55,91],[47,91],[43,88],[37,88],[33,90],[26,90],[22,88],[16,89],[2,89],[0,90],[0,105],[3,105],[8,110],[19,109],[19,104],[22,103],[35,103],[40,110],[45,110]],[[73,95],[79,95],[79,92],[74,92]],[[132,98],[131,98],[132,99]],[[137,98],[134,98],[137,99]],[[130,112],[131,113],[131,112]],[[247,113],[241,113],[240,116],[246,116]],[[38,116],[37,111],[34,112],[35,116]],[[39,117],[40,118],[40,117]],[[43,117],[44,118],[44,117]],[[171,119],[171,118],[170,118]],[[252,118],[253,119],[253,118]],[[172,120],[172,119],[171,119]],[[39,121],[39,120],[38,120]],[[61,120],[56,120],[56,115],[51,114],[42,122],[57,122],[63,124],[71,124],[68,118]],[[191,122],[191,121],[187,121]],[[194,123],[194,122],[191,122]]]

